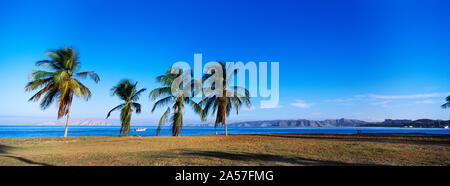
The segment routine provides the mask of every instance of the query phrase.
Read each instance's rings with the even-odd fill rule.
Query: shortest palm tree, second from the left
[[[121,100],[125,101],[116,107],[114,107],[111,111],[108,112],[106,118],[109,118],[111,112],[117,109],[122,109],[120,111],[120,121],[122,123],[122,127],[120,128],[120,133],[122,135],[128,136],[130,134],[130,122],[131,122],[131,113],[133,113],[133,108],[136,110],[136,113],[141,113],[141,105],[136,101],[139,100],[139,95],[144,92],[145,88],[136,91],[136,83],[130,82],[130,80],[122,80],[119,82],[117,86],[114,86],[111,89],[112,95],[117,95]]]

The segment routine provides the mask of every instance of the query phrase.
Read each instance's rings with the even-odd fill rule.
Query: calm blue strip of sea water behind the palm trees
[[[147,128],[136,132],[135,128]],[[156,126],[132,126],[130,135],[156,136]],[[398,127],[228,127],[228,134],[293,133],[293,134],[356,134],[362,133],[423,133],[450,134],[443,128],[398,128]],[[183,127],[181,135],[224,134],[223,128]],[[62,137],[64,126],[1,126],[0,138]],[[120,126],[69,126],[68,136],[119,136]],[[170,127],[163,127],[160,136],[171,136]]]

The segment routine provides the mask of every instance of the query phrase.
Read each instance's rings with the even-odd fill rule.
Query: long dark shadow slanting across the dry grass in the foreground
[[[279,155],[271,154],[256,154],[256,153],[229,153],[220,151],[189,151],[183,154],[203,157],[213,157],[228,160],[240,161],[266,161],[277,163],[276,165],[294,165],[294,166],[382,166],[379,164],[353,164],[341,163],[335,161],[322,161],[306,158],[289,158]],[[281,163],[281,164],[280,164]]]

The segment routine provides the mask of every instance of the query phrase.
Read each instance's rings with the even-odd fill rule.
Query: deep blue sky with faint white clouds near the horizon
[[[120,79],[158,87],[177,61],[280,62],[280,105],[244,109],[231,121],[262,119],[448,119],[450,4],[447,0],[2,1],[0,123],[56,120],[25,93],[34,63],[50,48],[75,46],[99,84],[76,100],[74,119],[103,119],[120,103]],[[144,94],[137,123],[161,112]],[[115,113],[114,118],[118,118]],[[188,123],[198,117],[187,111]],[[212,121],[212,118],[210,118]]]

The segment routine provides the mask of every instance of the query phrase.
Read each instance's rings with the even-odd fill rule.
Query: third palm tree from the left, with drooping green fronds
[[[206,120],[206,116],[203,113],[201,106],[193,100],[191,96],[184,95],[180,93],[178,96],[172,95],[171,86],[174,80],[181,75],[181,71],[178,73],[171,73],[171,70],[167,70],[165,75],[158,76],[156,81],[161,83],[162,87],[155,88],[150,92],[150,99],[155,100],[156,98],[163,97],[156,101],[153,105],[152,112],[156,108],[167,106],[166,111],[161,116],[158,122],[158,129],[156,134],[159,135],[161,132],[161,126],[166,122],[167,117],[172,113],[171,125],[172,125],[172,136],[179,136],[183,128],[183,108],[185,104],[189,104],[193,107],[195,113],[199,114],[201,119]],[[193,86],[193,84],[191,83]],[[182,85],[180,85],[180,89]]]

